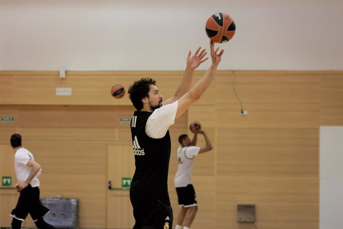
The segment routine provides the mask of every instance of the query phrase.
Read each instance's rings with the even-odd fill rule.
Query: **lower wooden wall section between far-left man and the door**
[[[104,228],[107,146],[89,141],[28,141],[42,166],[41,197],[79,199],[79,226]]]

